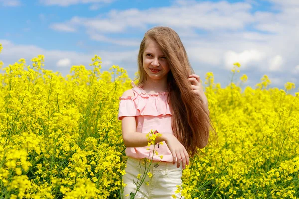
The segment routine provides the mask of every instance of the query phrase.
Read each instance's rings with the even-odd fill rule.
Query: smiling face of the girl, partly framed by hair
[[[170,71],[168,60],[160,49],[159,45],[148,39],[143,53],[143,68],[149,78],[162,79],[167,78]]]

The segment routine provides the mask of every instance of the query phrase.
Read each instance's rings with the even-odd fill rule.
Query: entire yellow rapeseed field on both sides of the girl
[[[131,88],[126,70],[101,71],[95,55],[92,70],[72,66],[63,77],[43,68],[43,55],[31,61],[0,62],[0,198],[121,198],[127,157],[117,114],[119,97]],[[236,63],[232,80],[239,72]],[[290,94],[291,82],[270,88],[266,75],[241,90],[247,76],[239,79],[222,88],[206,74],[219,144],[191,159],[181,193],[298,199],[299,92]]]

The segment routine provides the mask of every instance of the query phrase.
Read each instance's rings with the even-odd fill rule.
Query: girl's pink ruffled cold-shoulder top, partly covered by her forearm
[[[126,116],[135,116],[136,132],[149,133],[150,130],[157,130],[160,133],[172,133],[171,112],[167,102],[168,92],[158,92],[155,94],[146,94],[145,90],[137,87],[131,82],[134,96],[119,97],[118,120]],[[154,161],[172,162],[172,154],[165,142],[163,145],[155,145],[155,150],[159,153],[153,156],[153,145],[150,147],[127,147],[126,156],[141,159],[151,159]],[[150,150],[146,150],[150,148]],[[161,159],[160,156],[163,155]]]

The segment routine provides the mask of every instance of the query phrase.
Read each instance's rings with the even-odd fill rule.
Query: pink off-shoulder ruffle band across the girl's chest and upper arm
[[[155,94],[139,93],[135,96],[119,97],[118,120],[122,120],[124,116],[172,115],[170,106],[167,102],[167,97],[167,92],[159,92]]]

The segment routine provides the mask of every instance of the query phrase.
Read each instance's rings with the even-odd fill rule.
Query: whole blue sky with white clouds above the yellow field
[[[66,75],[97,54],[103,70],[119,65],[133,78],[144,33],[163,25],[202,79],[212,71],[226,86],[240,62],[246,85],[264,74],[272,87],[299,85],[299,0],[0,0],[0,18],[4,66],[44,54],[46,69]]]

